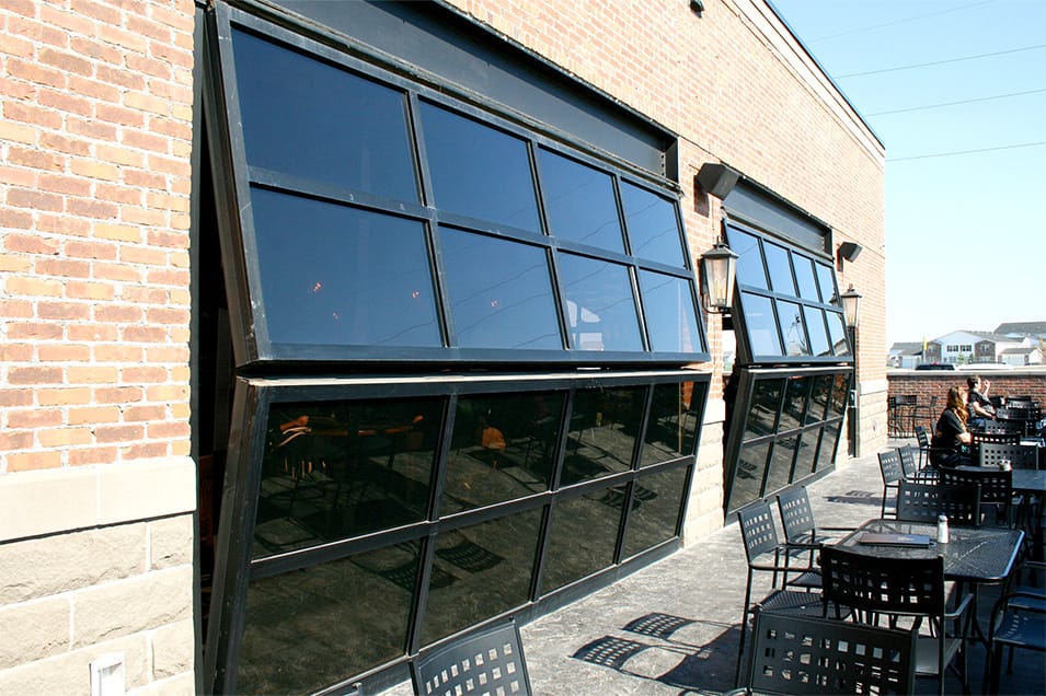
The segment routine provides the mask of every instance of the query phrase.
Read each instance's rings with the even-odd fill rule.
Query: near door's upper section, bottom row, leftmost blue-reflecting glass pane
[[[274,344],[441,346],[422,223],[253,188]]]

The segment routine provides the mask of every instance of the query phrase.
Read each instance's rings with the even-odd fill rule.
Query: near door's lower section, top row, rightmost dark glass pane
[[[640,457],[642,466],[693,454],[704,401],[703,384],[683,382],[654,387],[654,401]]]

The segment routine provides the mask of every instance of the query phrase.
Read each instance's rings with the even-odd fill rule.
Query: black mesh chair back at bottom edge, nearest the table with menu
[[[913,693],[913,631],[770,612],[754,630],[749,693]]]

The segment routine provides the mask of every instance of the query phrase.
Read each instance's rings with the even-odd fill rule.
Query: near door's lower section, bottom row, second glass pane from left
[[[423,643],[527,603],[541,512],[537,508],[436,537]]]

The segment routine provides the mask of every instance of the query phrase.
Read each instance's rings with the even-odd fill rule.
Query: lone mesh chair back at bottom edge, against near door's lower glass
[[[411,677],[418,696],[531,694],[516,622],[470,634],[415,660]]]

